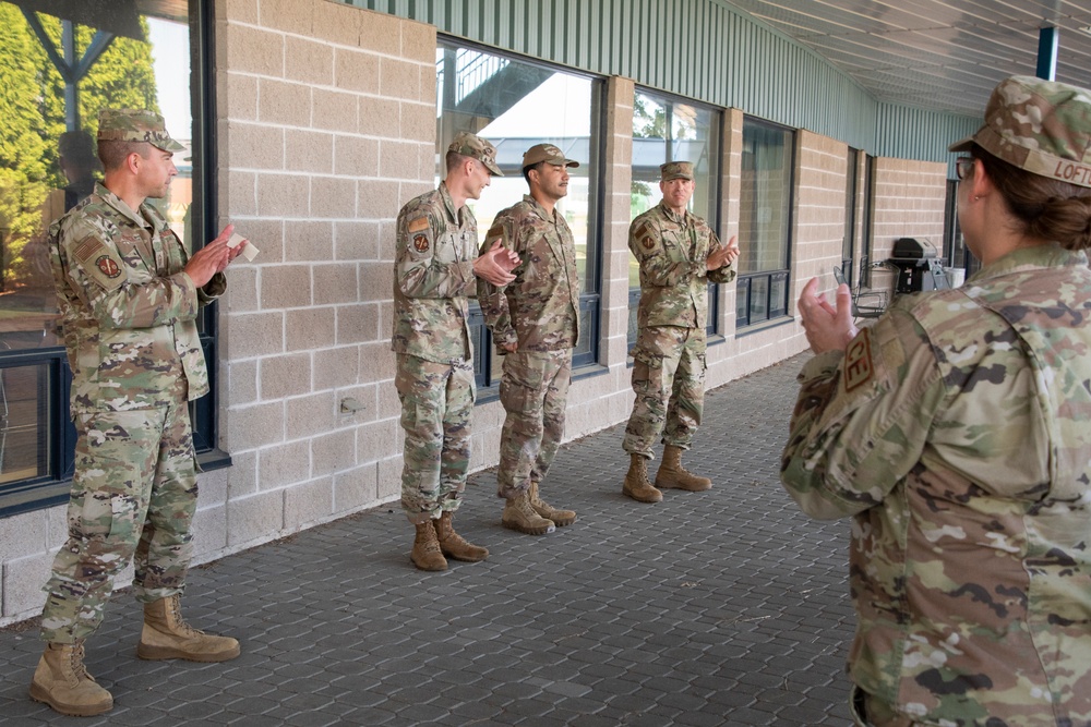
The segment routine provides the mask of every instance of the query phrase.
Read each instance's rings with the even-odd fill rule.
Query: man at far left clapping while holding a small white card
[[[238,641],[191,628],[179,606],[197,501],[188,402],[208,391],[196,318],[224,293],[224,270],[245,247],[228,245],[227,226],[189,256],[145,202],[166,196],[178,173],[171,157],[183,148],[156,113],[104,110],[105,178],[49,230],[77,439],[69,535],[46,584],[46,650],[31,696],[63,714],[113,706],[83,665],[84,640],[130,558],[144,604],[137,656],[239,655]]]

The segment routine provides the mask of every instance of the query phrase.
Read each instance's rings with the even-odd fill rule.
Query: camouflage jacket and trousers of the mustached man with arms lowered
[[[496,240],[518,253],[515,280],[496,288],[478,281],[478,300],[504,355],[500,400],[506,417],[496,475],[501,497],[541,482],[564,436],[572,378],[572,349],[579,338],[576,247],[564,216],[549,215],[530,195],[501,211],[485,235],[483,253]]]

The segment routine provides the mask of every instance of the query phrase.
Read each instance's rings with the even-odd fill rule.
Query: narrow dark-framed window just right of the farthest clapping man
[[[740,328],[788,315],[794,148],[791,130],[743,121],[735,289]]]

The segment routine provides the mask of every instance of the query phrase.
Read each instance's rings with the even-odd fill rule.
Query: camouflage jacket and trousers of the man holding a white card
[[[227,282],[194,287],[159,213],[100,184],[51,226],[49,246],[79,439],[41,626],[74,643],[98,628],[131,557],[139,601],[182,591],[197,496],[187,401],[208,391],[196,316]]]

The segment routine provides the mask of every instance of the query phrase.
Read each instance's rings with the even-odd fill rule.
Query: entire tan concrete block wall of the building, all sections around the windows
[[[398,498],[394,225],[403,204],[432,187],[435,170],[434,25],[331,0],[218,0],[215,13],[218,214],[261,254],[232,265],[218,308],[219,446],[232,464],[200,477],[196,562]],[[633,401],[626,325],[635,86],[620,75],[607,81],[599,366],[573,383],[570,439],[625,421]],[[724,240],[740,218],[743,119],[752,111],[723,110]],[[812,276],[832,287],[847,143],[796,132],[793,300]],[[874,259],[898,237],[942,239],[946,169],[878,159]],[[719,287],[723,336],[708,350],[709,387],[806,348],[794,319],[739,335],[734,292]],[[495,464],[502,422],[499,402],[475,410],[473,470]],[[620,441],[618,462],[618,482],[596,486],[621,486]],[[64,533],[63,507],[4,519],[0,623],[39,611]],[[408,549],[410,535],[407,525],[406,542],[393,547]]]

